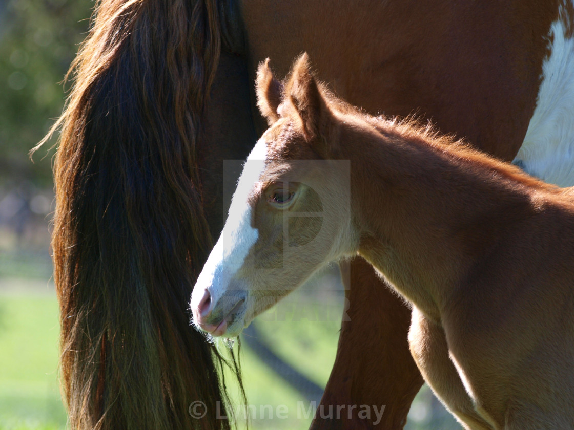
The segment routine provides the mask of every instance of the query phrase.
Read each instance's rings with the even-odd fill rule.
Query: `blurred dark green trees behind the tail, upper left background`
[[[0,185],[51,186],[49,145],[35,164],[28,151],[61,113],[59,83],[93,7],[93,0],[0,0]]]

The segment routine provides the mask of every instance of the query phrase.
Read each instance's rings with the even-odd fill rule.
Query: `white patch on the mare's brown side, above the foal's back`
[[[562,6],[559,14],[567,17]],[[536,108],[514,159],[526,172],[563,187],[574,185],[574,40],[566,34],[563,19],[550,26]]]

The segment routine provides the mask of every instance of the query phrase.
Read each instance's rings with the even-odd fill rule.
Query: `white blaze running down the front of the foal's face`
[[[266,157],[267,145],[261,138],[243,166],[243,172],[231,200],[227,221],[219,240],[205,261],[203,270],[197,277],[191,303],[199,303],[203,291],[207,288],[216,304],[257,241],[259,232],[251,226],[251,206],[247,202],[247,196],[265,169]]]

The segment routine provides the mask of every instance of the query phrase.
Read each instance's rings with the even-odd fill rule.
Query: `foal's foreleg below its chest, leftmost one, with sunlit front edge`
[[[410,352],[425,381],[464,428],[492,430],[475,410],[451,359],[443,327],[427,319],[416,307],[409,331]]]

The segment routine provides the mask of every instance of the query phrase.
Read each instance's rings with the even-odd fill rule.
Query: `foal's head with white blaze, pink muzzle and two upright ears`
[[[337,160],[337,103],[303,54],[284,84],[269,60],[257,74],[269,123],[247,158],[229,216],[193,289],[195,325],[238,335],[329,261],[355,251],[349,162]]]

